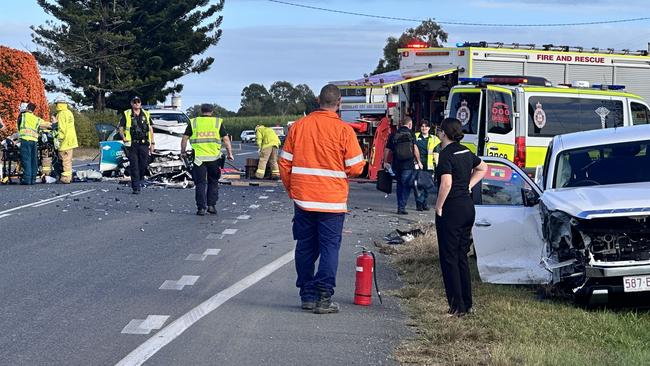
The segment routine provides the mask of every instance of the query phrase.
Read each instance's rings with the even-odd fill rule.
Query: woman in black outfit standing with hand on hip
[[[442,151],[436,168],[436,233],[450,316],[463,316],[472,308],[467,253],[475,212],[470,191],[487,170],[487,164],[460,144],[463,136],[455,118],[446,118],[438,129]]]

